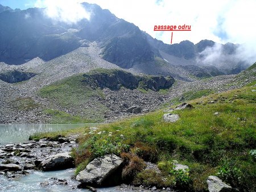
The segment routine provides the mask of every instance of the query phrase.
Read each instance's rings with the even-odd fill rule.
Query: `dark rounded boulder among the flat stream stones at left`
[[[73,158],[68,152],[49,156],[40,163],[40,168],[45,171],[68,169],[73,168],[73,166]]]

